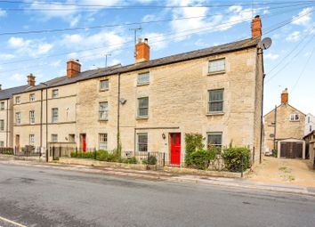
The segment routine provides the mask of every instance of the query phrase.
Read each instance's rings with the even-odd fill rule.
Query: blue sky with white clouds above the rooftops
[[[70,58],[83,70],[104,67],[105,53],[109,65],[133,63],[130,28],[141,26],[139,36],[149,38],[156,59],[249,37],[250,20],[260,14],[263,36],[273,40],[264,53],[264,112],[287,87],[290,104],[315,114],[314,10],[315,1],[306,0],[0,1],[0,84],[24,85],[29,73],[37,83],[64,76]],[[29,33],[59,28],[85,29]]]

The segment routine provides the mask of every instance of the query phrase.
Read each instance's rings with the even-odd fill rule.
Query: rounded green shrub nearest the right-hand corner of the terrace
[[[243,171],[250,167],[250,150],[234,147],[223,150],[224,165],[230,172],[240,172],[241,156],[243,156]]]

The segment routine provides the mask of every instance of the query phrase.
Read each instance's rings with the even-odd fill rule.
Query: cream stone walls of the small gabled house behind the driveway
[[[291,121],[291,114],[299,114],[300,119],[298,121]],[[273,149],[273,137],[271,137],[271,134],[274,134],[274,125],[272,124],[274,118],[274,109],[264,117],[266,149],[268,150]],[[305,115],[302,112],[288,104],[281,104],[277,108],[276,141],[288,138],[303,139],[304,123]]]

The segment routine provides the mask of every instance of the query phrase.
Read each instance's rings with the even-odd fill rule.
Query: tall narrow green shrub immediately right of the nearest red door
[[[204,138],[202,134],[185,134],[186,152],[185,152],[185,164],[191,166],[191,155],[196,150],[202,150],[204,148]]]

